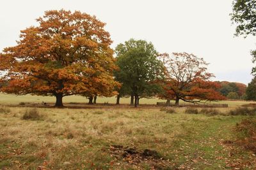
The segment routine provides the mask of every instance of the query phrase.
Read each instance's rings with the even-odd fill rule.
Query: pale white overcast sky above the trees
[[[215,80],[248,83],[250,50],[256,39],[234,37],[232,0],[45,0],[1,1],[0,51],[13,46],[20,30],[36,25],[45,10],[80,10],[106,22],[112,47],[135,38],[152,41],[158,52],[188,52],[209,62]]]

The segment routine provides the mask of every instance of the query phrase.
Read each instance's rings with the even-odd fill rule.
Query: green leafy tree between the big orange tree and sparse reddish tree
[[[141,97],[156,95],[161,87],[156,81],[163,73],[163,63],[157,60],[154,45],[144,40],[129,39],[116,46],[116,64],[120,68],[115,78],[122,83],[120,95],[134,96],[136,107]]]

